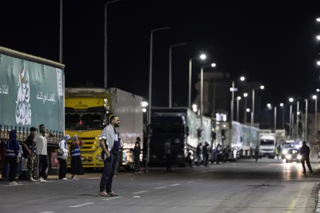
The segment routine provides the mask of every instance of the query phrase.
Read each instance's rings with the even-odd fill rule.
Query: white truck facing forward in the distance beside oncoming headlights
[[[260,144],[259,144],[259,156],[260,157],[275,157],[276,149],[276,133],[274,132],[260,132]]]

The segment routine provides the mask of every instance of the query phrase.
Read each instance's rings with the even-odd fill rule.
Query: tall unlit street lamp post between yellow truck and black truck
[[[111,2],[111,1],[110,1]],[[147,161],[146,161],[146,169],[150,160],[150,124],[151,124],[151,101],[152,101],[152,50],[153,50],[153,32],[170,29],[171,27],[160,27],[156,29],[152,29],[150,32],[150,54],[149,54],[149,108],[148,108],[148,141],[147,141]]]

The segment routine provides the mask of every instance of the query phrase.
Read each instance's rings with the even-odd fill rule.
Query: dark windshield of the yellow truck
[[[94,130],[102,129],[104,115],[101,112],[66,112],[65,129]]]

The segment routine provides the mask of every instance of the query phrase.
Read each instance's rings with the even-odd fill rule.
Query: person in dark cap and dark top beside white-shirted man
[[[36,155],[35,155],[35,142],[33,141],[36,128],[30,128],[30,134],[22,144],[22,156],[27,158],[26,167],[28,169],[29,181],[35,182],[36,177]]]

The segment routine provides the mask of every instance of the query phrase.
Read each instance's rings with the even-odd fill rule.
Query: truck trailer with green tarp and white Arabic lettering
[[[20,144],[30,127],[44,124],[55,136],[47,140],[46,178],[59,167],[58,142],[64,134],[64,65],[0,47],[0,166],[10,130]],[[27,159],[20,161],[20,179],[28,179]]]

